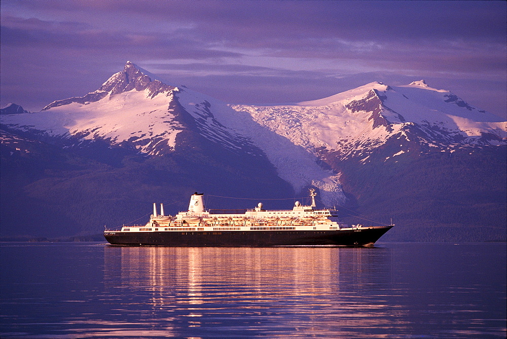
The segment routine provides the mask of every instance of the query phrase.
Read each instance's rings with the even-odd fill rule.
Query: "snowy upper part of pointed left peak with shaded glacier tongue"
[[[131,62],[94,92],[54,101],[38,113],[5,116],[2,123],[56,138],[65,147],[100,140],[152,156],[173,151],[178,133],[193,128],[232,152],[267,155],[280,178],[298,192],[313,185],[321,190],[325,204],[340,205],[345,199],[336,175],[316,164],[314,155],[220,100],[167,85]]]

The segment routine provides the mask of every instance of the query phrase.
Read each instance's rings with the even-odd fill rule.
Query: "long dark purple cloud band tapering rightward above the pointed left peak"
[[[69,29],[72,28],[72,29]],[[206,49],[200,41],[163,32],[139,33],[134,31],[91,28],[78,22],[43,21],[7,17],[2,22],[4,46],[31,47],[35,51],[82,50],[114,54],[129,50],[133,54],[170,56],[173,58],[233,57],[237,53]],[[134,55],[135,56],[135,55]]]

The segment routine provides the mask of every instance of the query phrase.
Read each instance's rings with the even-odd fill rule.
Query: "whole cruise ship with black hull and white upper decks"
[[[336,209],[317,209],[315,195],[310,189],[311,205],[296,201],[292,210],[265,210],[260,202],[242,214],[214,214],[205,209],[203,194],[196,192],[188,211],[164,215],[164,206],[158,213],[153,204],[146,225],[106,228],[104,237],[124,246],[372,246],[394,226],[345,224]]]

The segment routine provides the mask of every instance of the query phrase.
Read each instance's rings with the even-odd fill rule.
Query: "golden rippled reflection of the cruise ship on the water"
[[[263,334],[260,324],[266,322],[283,333],[298,327],[292,323],[295,315],[315,322],[316,327],[304,326],[305,335],[318,333],[322,326],[327,326],[328,334],[345,335],[348,327],[370,326],[373,319],[393,325],[383,314],[385,300],[378,294],[391,284],[388,249],[107,247],[104,251],[105,288],[126,296],[121,311],[138,309],[142,303],[143,316],[166,321],[171,334],[207,326],[217,334],[217,326],[223,326],[224,333],[232,335],[231,328],[238,324],[250,334]],[[369,290],[376,292],[370,297],[365,293]]]

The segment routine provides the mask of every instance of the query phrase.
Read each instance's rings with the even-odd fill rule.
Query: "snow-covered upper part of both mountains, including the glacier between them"
[[[505,144],[507,130],[507,122],[424,80],[393,87],[373,82],[291,106],[226,105],[170,85],[130,61],[85,96],[54,101],[33,114],[16,107],[15,113],[24,114],[4,116],[9,128],[65,139],[67,146],[104,140],[148,155],[174,149],[176,135],[187,128],[184,110],[209,141],[234,152],[267,155],[296,190],[308,184],[340,190],[338,177],[316,165],[315,157],[366,162],[392,138],[400,140],[392,157],[409,152],[407,142],[453,152],[467,145]]]

